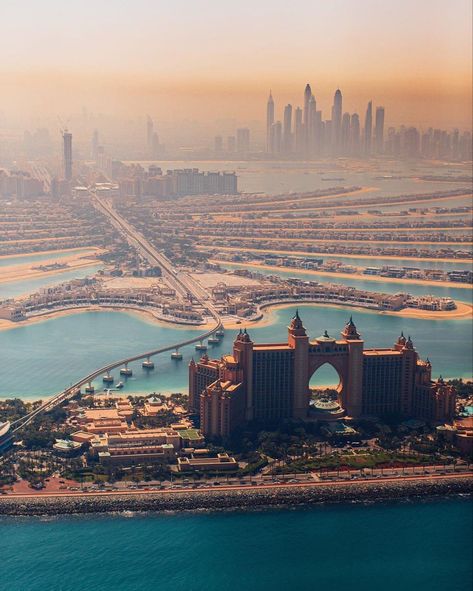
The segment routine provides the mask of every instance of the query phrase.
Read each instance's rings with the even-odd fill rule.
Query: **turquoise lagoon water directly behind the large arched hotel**
[[[287,325],[296,306],[271,313],[273,323],[249,328],[255,342],[284,342]],[[324,306],[300,307],[311,337],[337,336],[351,311]],[[389,347],[401,331],[411,334],[414,345],[433,364],[433,374],[444,377],[471,377],[472,344],[469,320],[421,320],[375,312],[353,311],[353,318],[366,347]],[[243,325],[242,325],[243,326]],[[209,346],[209,355],[219,358],[231,351],[237,331],[228,330],[218,345]],[[18,326],[0,332],[0,398],[37,398],[58,392],[92,369],[126,356],[194,336],[194,329],[158,325],[125,312],[84,312]],[[199,357],[193,346],[182,350],[184,359],[173,361],[169,354],[154,359],[156,369],[142,370],[131,364],[132,378],[123,379],[123,394],[152,391],[187,391],[187,364]],[[328,381],[326,381],[328,379]],[[320,384],[331,384],[328,366],[317,372]],[[102,388],[101,381],[96,386]]]

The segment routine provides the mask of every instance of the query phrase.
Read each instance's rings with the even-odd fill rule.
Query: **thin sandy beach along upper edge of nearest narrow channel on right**
[[[431,281],[428,279],[401,279],[399,277],[380,277],[379,275],[363,275],[362,273],[330,273],[329,271],[314,271],[313,269],[298,269],[296,267],[278,267],[277,265],[262,265],[260,263],[234,263],[232,261],[223,261],[220,259],[209,259],[209,262],[215,263],[221,266],[230,265],[232,267],[253,267],[255,269],[275,270],[283,271],[285,273],[307,273],[308,275],[315,275],[320,277],[332,277],[334,283],[336,278],[342,279],[356,279],[374,281],[378,283],[406,283],[410,285],[425,285],[429,287],[451,287],[460,289],[472,289],[472,286],[467,283],[456,283],[454,281]]]

